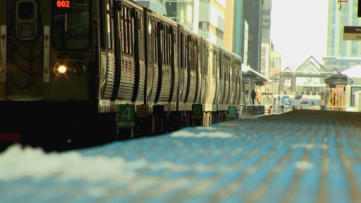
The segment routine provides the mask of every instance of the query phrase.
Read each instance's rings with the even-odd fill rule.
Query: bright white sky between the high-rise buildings
[[[272,0],[271,40],[281,52],[281,69],[310,56],[320,64],[327,50],[328,0]]]

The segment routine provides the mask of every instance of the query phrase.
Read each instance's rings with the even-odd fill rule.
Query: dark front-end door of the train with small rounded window
[[[49,58],[44,60],[44,52],[49,54],[49,26],[43,26],[40,12],[44,2],[9,0],[7,4],[1,3],[9,10],[1,13],[8,20],[1,23],[0,98],[42,100],[43,83],[49,82]]]

